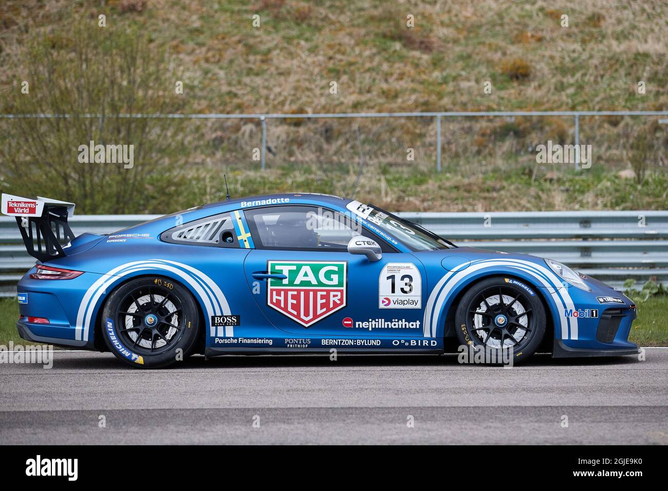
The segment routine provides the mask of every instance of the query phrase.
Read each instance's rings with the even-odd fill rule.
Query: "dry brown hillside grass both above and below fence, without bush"
[[[156,46],[170,47],[172,63],[183,72],[188,112],[668,108],[668,5],[663,0],[148,0],[140,14],[123,14],[121,3],[108,3],[109,20],[140,24]],[[68,4],[5,0],[0,12],[5,100],[15,97],[20,84],[25,37],[44,33],[54,47],[67,49]],[[98,1],[75,5],[92,22],[102,8]],[[254,13],[261,15],[260,28],[251,26]],[[415,17],[413,28],[405,25],[408,13]],[[560,27],[564,13],[569,27]],[[647,84],[647,94],[637,94],[639,80]],[[329,93],[331,81],[337,82],[337,94]],[[492,94],[484,94],[484,81],[492,82]],[[611,171],[627,168],[631,139],[642,124],[641,118],[581,118],[580,141],[593,145],[598,164]],[[562,169],[536,167],[531,149],[546,140],[572,142],[572,125],[572,118],[444,120],[444,166],[453,167],[453,175],[462,179],[453,178],[458,190],[472,193],[473,202],[449,204],[446,190],[427,185],[403,192],[383,178],[389,168],[408,175],[411,169],[434,168],[434,120],[272,120],[268,143],[275,154],[267,154],[267,164],[295,168],[289,182],[319,173],[329,173],[331,180],[333,168],[339,172],[343,166],[345,175],[336,174],[340,182],[329,190],[348,190],[357,176],[359,128],[368,172],[360,192],[373,200],[394,200],[403,209],[484,208],[499,190],[465,182],[508,169],[536,180],[556,172],[554,187],[528,202],[540,198],[568,208],[579,203],[565,200],[558,178]],[[188,168],[194,176],[257,167],[250,158],[259,146],[259,122],[188,122],[188,128]],[[408,147],[415,149],[414,162],[405,160]],[[661,161],[653,166],[663,169]],[[595,206],[597,199],[582,203]]]

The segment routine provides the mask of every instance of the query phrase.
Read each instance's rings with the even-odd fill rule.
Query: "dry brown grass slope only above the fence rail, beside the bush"
[[[668,17],[668,6],[660,0],[110,5],[125,3],[140,5],[142,15],[114,21],[145,22],[155,42],[172,46],[174,61],[190,71],[192,110],[637,109],[668,100],[668,27],[657,21]],[[26,28],[57,31],[65,21],[58,15],[63,1],[5,4],[0,21],[8,29],[0,35],[7,43]],[[263,16],[259,29],[250,25],[255,11]],[[407,13],[414,28],[405,26]],[[562,13],[569,27],[560,27]],[[482,81],[502,69],[516,82],[497,81],[492,94],[482,94]],[[638,79],[652,90],[631,101]],[[341,88],[336,96],[327,90],[331,80]]]

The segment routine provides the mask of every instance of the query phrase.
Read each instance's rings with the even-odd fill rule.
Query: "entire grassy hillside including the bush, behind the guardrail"
[[[5,0],[0,112],[105,118],[0,120],[0,189],[160,213],[219,198],[226,172],[235,196],[313,190],[395,210],[665,209],[668,131],[652,118],[580,118],[593,168],[579,173],[534,151],[572,143],[572,118],[444,119],[437,175],[431,118],[271,120],[260,173],[257,120],[116,115],[665,110],[666,17],[661,0]],[[89,140],[134,144],[134,168],[80,164]]]

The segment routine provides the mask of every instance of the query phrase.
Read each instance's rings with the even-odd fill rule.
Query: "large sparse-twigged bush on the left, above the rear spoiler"
[[[69,118],[4,120],[0,180],[14,194],[39,194],[77,203],[83,213],[140,210],[146,196],[168,201],[183,168],[178,120],[122,118],[124,113],[178,112],[178,77],[166,52],[138,29],[98,27],[96,17],[72,17],[54,39],[32,35],[16,63],[29,82],[5,89],[2,112],[59,114]],[[11,63],[11,60],[10,60]],[[81,118],[100,114],[100,118]],[[134,166],[81,163],[79,146],[90,141],[130,145]],[[26,172],[29,169],[30,172]]]

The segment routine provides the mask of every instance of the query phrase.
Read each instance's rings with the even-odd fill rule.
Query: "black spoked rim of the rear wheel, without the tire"
[[[186,325],[183,305],[164,287],[139,287],[118,307],[118,332],[123,343],[142,355],[159,355],[171,349]]]

